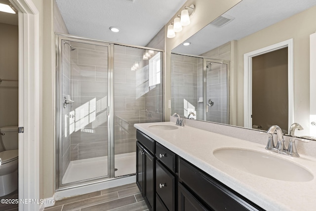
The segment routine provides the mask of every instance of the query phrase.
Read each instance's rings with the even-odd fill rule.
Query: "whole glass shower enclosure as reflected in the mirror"
[[[171,53],[171,113],[229,124],[229,62]]]

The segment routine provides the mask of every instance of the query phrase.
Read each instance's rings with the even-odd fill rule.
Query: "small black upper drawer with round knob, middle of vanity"
[[[163,163],[166,167],[168,167],[171,171],[175,173],[176,171],[176,155],[162,146],[161,144],[156,142],[156,157],[157,159]]]

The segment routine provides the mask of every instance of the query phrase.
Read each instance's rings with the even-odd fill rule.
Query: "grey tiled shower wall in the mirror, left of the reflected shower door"
[[[203,119],[203,64],[202,59],[171,54],[171,113],[186,116],[185,108],[197,111],[197,119]]]

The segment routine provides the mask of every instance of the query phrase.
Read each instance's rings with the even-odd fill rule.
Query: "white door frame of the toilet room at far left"
[[[19,199],[40,201],[40,14],[32,0],[10,0],[18,10]],[[40,203],[19,203],[20,211]]]

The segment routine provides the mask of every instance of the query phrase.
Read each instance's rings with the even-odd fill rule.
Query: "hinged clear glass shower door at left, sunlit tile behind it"
[[[59,45],[62,186],[109,176],[110,44],[67,39],[59,41]]]

